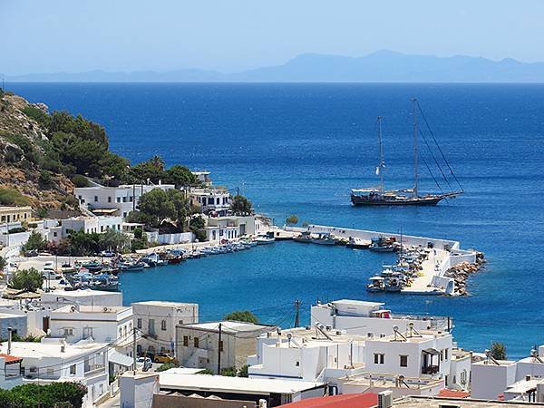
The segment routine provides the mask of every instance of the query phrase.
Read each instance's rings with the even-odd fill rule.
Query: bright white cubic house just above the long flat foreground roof
[[[257,338],[248,357],[249,378],[328,382],[364,368],[364,335],[318,327],[277,330]]]

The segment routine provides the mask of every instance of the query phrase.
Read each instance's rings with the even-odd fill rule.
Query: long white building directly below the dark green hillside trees
[[[121,216],[123,219],[129,212],[138,209],[138,203],[143,194],[152,189],[174,189],[173,184],[121,184],[119,187],[78,187],[73,194],[82,207],[96,214]]]

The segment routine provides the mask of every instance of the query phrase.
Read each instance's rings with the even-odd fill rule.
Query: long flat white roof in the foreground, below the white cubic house
[[[209,374],[160,373],[160,388],[211,393],[297,393],[322,387],[324,383],[267,378],[226,377]]]

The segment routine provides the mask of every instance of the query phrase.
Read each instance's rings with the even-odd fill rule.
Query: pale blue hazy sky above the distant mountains
[[[0,0],[0,73],[210,68],[388,49],[544,61],[544,1]]]

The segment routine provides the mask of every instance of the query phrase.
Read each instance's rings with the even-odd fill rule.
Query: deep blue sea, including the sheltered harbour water
[[[126,304],[198,302],[201,320],[248,309],[263,322],[287,327],[294,323],[296,299],[303,302],[303,322],[316,299],[366,299],[384,301],[393,312],[452,316],[459,345],[478,351],[500,341],[510,357],[519,357],[544,343],[544,85],[6,87],[52,110],[82,113],[102,123],[112,150],[132,163],[160,154],[168,165],[210,170],[216,184],[240,189],[279,225],[296,214],[301,222],[392,232],[402,228],[405,234],[458,239],[462,248],[484,251],[489,261],[471,277],[471,296],[372,295],[364,290],[367,277],[391,256],[277,242],[122,275]],[[378,115],[384,117],[386,187],[411,187],[413,97],[465,194],[433,208],[353,208],[350,189],[376,184]],[[434,167],[423,142],[420,147]],[[436,190],[423,169],[421,189]],[[443,181],[441,186],[447,189]]]

